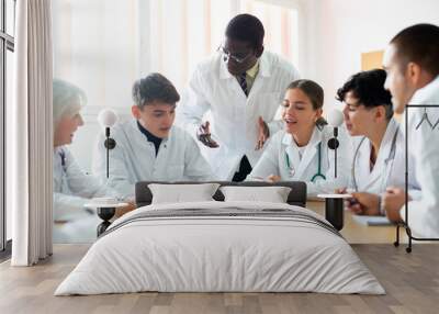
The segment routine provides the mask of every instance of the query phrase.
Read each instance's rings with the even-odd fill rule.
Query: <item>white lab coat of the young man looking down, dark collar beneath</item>
[[[138,181],[207,181],[215,180],[195,141],[182,128],[172,126],[168,138],[160,143],[158,155],[151,142],[140,132],[136,120],[111,128],[116,146],[110,150],[109,186],[132,198]],[[100,134],[93,154],[93,173],[106,179],[106,149]]]

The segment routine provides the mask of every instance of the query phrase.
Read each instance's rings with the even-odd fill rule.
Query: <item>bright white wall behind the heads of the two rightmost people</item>
[[[438,0],[319,0],[317,7],[308,20],[319,24],[313,78],[325,88],[326,109],[338,103],[336,90],[361,70],[361,53],[385,48],[409,25],[439,25]]]

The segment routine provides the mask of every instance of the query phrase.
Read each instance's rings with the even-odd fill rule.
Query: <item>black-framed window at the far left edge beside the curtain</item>
[[[0,0],[0,258],[10,253],[11,213],[5,206],[5,115],[12,102],[15,0]]]

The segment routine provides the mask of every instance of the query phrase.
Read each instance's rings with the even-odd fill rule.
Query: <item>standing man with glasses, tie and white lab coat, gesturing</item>
[[[243,181],[267,138],[281,130],[274,116],[299,72],[263,49],[264,30],[256,16],[235,16],[225,35],[219,53],[194,70],[178,121],[204,144],[203,154],[222,180]],[[211,121],[204,120],[207,112]]]

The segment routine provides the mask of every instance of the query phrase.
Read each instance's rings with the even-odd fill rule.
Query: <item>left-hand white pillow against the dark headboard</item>
[[[218,183],[148,184],[153,193],[151,204],[214,201],[212,197],[218,187]]]

